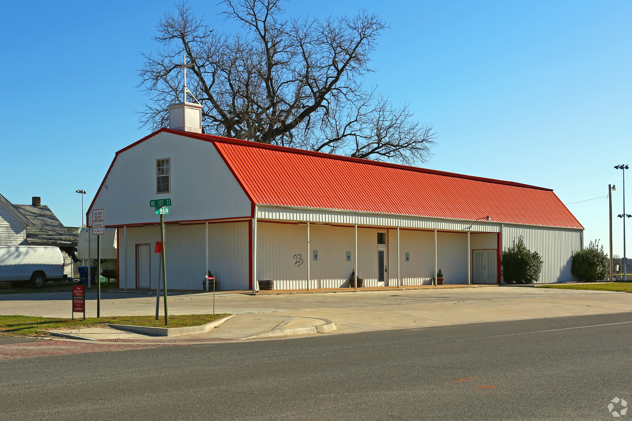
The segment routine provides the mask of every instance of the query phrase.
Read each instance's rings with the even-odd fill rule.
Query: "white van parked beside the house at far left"
[[[47,280],[64,278],[64,258],[59,247],[0,246],[0,281],[30,281],[41,288]]]

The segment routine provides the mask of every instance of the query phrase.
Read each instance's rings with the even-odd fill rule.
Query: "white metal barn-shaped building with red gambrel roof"
[[[188,103],[186,104],[188,105]],[[186,107],[185,107],[186,108]],[[173,110],[172,110],[173,111]],[[118,228],[119,287],[155,288],[159,215],[170,198],[167,285],[222,290],[501,283],[522,236],[540,282],[573,280],[583,227],[550,189],[161,129],[118,151],[88,209]],[[198,133],[195,133],[197,131]],[[489,220],[487,217],[489,216]]]

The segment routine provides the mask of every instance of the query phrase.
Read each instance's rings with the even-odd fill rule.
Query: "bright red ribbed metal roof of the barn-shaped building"
[[[493,222],[583,228],[551,189],[208,134],[156,133],[161,131],[212,141],[257,205],[458,220],[489,215]]]

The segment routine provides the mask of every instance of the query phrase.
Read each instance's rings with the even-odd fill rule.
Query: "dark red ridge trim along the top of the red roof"
[[[166,132],[172,133],[172,134],[181,134],[181,135],[184,135],[184,136],[187,136],[187,137],[190,137],[190,138],[198,138],[198,139],[201,139],[201,140],[210,140],[210,141],[218,142],[218,143],[230,143],[230,144],[233,144],[233,145],[248,146],[250,148],[261,148],[261,149],[267,149],[267,150],[276,150],[276,151],[280,151],[280,152],[296,153],[298,155],[310,155],[312,157],[320,157],[320,158],[333,159],[333,160],[339,160],[339,161],[363,163],[365,165],[376,165],[378,167],[387,167],[387,168],[407,170],[407,171],[423,172],[425,174],[443,175],[445,177],[455,177],[455,178],[466,179],[466,180],[490,182],[490,183],[494,183],[494,184],[504,184],[506,186],[525,187],[525,188],[528,188],[528,189],[553,191],[553,189],[549,189],[547,187],[532,186],[531,184],[523,184],[523,183],[514,182],[514,181],[490,179],[490,178],[487,178],[487,177],[477,177],[476,175],[466,175],[466,174],[458,174],[456,172],[432,170],[432,169],[421,168],[421,167],[413,167],[411,165],[402,165],[402,164],[399,164],[399,163],[382,162],[382,161],[374,161],[374,160],[364,159],[364,158],[347,157],[346,155],[336,155],[336,154],[333,154],[333,153],[310,151],[310,150],[299,149],[299,148],[289,148],[288,146],[269,145],[267,143],[259,143],[259,142],[254,142],[254,141],[250,141],[250,140],[233,139],[233,138],[226,138],[224,136],[216,136],[215,134],[190,133],[190,132],[185,132],[185,131],[179,131],[179,130],[163,128],[163,129],[160,129],[159,131],[157,131],[155,133],[150,134],[150,136],[153,136],[154,134],[157,134],[160,131],[166,131]],[[147,137],[149,138],[150,136],[147,136]],[[142,140],[144,140],[144,139],[142,139]],[[121,151],[123,151],[123,150],[121,150]]]

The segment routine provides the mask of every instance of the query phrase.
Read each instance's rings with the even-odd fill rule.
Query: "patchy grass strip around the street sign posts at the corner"
[[[78,314],[76,315],[78,316]],[[169,316],[169,326],[164,325],[164,316],[155,320],[155,316],[112,316],[87,317],[82,319],[58,319],[56,317],[37,316],[0,316],[0,335],[3,336],[46,336],[42,329],[81,329],[105,327],[106,323],[133,324],[134,326],[154,326],[159,328],[181,328],[199,326],[221,319],[228,314],[184,314]]]

